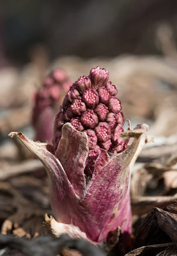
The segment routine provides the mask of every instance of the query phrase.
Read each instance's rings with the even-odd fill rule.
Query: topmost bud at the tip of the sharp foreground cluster
[[[93,87],[98,88],[107,83],[109,79],[109,72],[105,70],[105,68],[100,68],[97,66],[96,68],[91,68],[89,77]]]

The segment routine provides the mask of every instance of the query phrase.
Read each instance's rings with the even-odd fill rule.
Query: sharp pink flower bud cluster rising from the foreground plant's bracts
[[[116,86],[109,79],[109,72],[96,67],[89,76],[80,77],[70,87],[61,111],[54,124],[53,145],[58,147],[63,124],[70,122],[77,131],[88,135],[88,164],[94,164],[100,149],[117,154],[124,149],[121,102],[116,97]]]

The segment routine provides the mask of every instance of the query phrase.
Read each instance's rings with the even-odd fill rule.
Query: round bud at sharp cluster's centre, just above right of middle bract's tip
[[[88,109],[81,115],[81,121],[86,127],[94,128],[98,124],[98,116],[93,109]]]

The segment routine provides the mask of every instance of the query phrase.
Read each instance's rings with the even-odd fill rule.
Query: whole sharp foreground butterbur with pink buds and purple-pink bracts
[[[132,232],[130,168],[146,124],[123,130],[121,102],[104,68],[92,68],[66,94],[54,122],[52,150],[12,132],[44,164],[50,179],[54,234],[101,243],[117,227]],[[54,227],[53,227],[54,228]]]

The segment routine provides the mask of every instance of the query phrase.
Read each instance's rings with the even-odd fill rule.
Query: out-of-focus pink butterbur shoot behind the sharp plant
[[[52,70],[45,77],[34,97],[32,124],[36,133],[35,140],[52,142],[54,117],[71,85],[70,78],[61,68]]]

